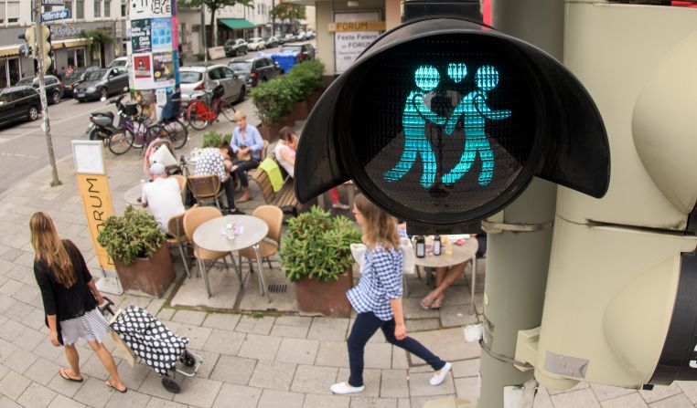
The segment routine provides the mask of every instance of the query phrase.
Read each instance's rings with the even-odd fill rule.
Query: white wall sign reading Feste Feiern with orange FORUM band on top
[[[341,73],[349,69],[361,52],[380,37],[382,28],[372,28],[380,23],[380,12],[334,14],[334,70]],[[365,27],[365,29],[363,29]],[[359,29],[361,28],[361,29]],[[375,31],[373,31],[375,30]]]

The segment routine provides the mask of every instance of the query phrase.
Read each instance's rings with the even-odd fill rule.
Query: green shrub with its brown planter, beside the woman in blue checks
[[[295,283],[298,309],[325,316],[349,317],[346,291],[353,286],[350,245],[360,231],[349,218],[314,206],[288,220],[281,245],[281,268]]]

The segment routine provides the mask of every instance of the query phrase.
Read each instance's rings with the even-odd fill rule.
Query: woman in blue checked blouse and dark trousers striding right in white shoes
[[[363,231],[362,240],[367,250],[359,283],[347,292],[351,306],[358,312],[347,340],[349,381],[332,385],[331,391],[346,394],[365,390],[363,350],[378,329],[391,344],[426,361],[435,371],[431,385],[440,384],[451,364],[406,334],[402,313],[402,252],[394,218],[362,194],[356,197],[353,214]]]

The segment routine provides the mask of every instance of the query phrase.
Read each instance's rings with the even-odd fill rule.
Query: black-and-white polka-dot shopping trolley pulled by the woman
[[[122,345],[162,377],[162,386],[168,392],[180,392],[177,372],[193,377],[203,362],[201,356],[187,350],[188,339],[174,334],[145,309],[129,306],[114,311],[113,301],[104,300],[100,310],[104,316],[113,316],[110,324]]]

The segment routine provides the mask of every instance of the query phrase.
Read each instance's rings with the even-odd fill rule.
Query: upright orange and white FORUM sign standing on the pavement
[[[94,253],[104,270],[115,270],[111,256],[97,242],[97,235],[102,231],[104,222],[113,215],[112,195],[104,163],[104,143],[72,141],[72,154]]]

